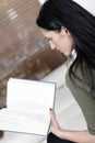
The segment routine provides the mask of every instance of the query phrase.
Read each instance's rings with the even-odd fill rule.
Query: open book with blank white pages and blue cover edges
[[[10,78],[7,108],[0,110],[0,130],[47,135],[55,95],[55,82]]]

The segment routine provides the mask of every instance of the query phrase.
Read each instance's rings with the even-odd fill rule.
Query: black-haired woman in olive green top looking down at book
[[[67,86],[79,103],[87,130],[62,129],[50,109],[48,143],[95,143],[95,18],[72,0],[47,0],[36,20],[51,50],[76,57],[67,73]]]

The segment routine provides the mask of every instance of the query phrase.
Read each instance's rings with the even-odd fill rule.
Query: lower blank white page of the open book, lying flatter
[[[39,114],[34,114],[34,118],[32,118],[9,109],[2,109],[0,111],[0,130],[47,135],[49,120],[47,121],[47,118],[45,121],[44,119],[36,120],[35,116],[40,117]],[[44,114],[40,118],[44,118]]]

